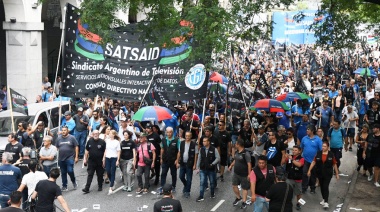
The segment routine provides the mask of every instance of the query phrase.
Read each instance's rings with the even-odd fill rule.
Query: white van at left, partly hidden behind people
[[[43,121],[45,127],[49,127],[54,135],[57,137],[59,125],[59,105],[62,103],[62,114],[70,109],[70,101],[56,101],[56,102],[43,102],[28,104],[28,116],[22,113],[13,112],[14,130],[17,131],[17,124],[26,121],[32,126],[37,122]],[[11,111],[6,110],[0,112],[0,159],[8,143],[8,135],[12,132],[12,118]],[[54,141],[54,140],[53,140]],[[1,163],[1,160],[0,160]]]

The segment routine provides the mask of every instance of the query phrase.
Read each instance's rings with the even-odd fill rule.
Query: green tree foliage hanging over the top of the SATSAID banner
[[[136,12],[147,8],[146,24],[141,24],[144,39],[167,47],[177,46],[174,37],[192,42],[193,58],[209,63],[213,53],[226,50],[228,43],[239,40],[256,41],[270,38],[271,22],[257,21],[258,14],[294,0],[230,0],[227,7],[218,0],[84,0],[80,14],[89,30],[101,35],[104,45],[112,42],[110,26],[125,23],[114,14],[117,11]],[[192,24],[180,26],[181,20]]]

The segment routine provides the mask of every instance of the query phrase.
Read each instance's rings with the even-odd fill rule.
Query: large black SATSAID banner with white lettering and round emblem
[[[180,21],[179,27],[191,22]],[[196,96],[207,88],[207,73],[188,62],[190,41],[166,49],[144,39],[137,24],[112,31],[114,42],[101,46],[101,37],[81,22],[76,8],[67,4],[63,53],[62,94],[94,97],[96,94],[126,101],[141,101],[153,76],[157,90],[170,100]],[[192,69],[196,71],[191,72]],[[205,85],[203,85],[204,83]]]

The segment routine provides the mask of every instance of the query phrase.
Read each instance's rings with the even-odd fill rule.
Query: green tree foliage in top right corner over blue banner
[[[354,48],[361,42],[359,26],[364,24],[367,30],[379,31],[379,0],[322,0],[317,12],[318,17],[325,17],[324,22],[316,20],[310,28],[315,31],[316,44],[324,48]],[[303,15],[299,14],[298,19]],[[362,46],[365,44],[362,42]]]

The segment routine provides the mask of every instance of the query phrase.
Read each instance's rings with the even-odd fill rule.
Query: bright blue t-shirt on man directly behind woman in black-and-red
[[[302,157],[309,163],[313,162],[318,151],[322,151],[322,140],[314,135],[313,138],[305,136],[301,141]]]

